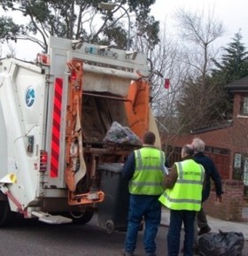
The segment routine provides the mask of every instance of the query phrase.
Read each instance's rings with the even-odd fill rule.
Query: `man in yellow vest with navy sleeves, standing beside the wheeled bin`
[[[128,230],[123,255],[133,256],[141,222],[144,220],[143,245],[145,256],[156,256],[155,238],[161,221],[159,196],[167,165],[165,153],[154,147],[155,135],[143,136],[143,148],[133,151],[123,167],[123,177],[129,181]]]

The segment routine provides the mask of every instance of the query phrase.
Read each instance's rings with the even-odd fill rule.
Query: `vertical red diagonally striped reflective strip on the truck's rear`
[[[53,113],[52,113],[52,129],[51,129],[51,158],[50,158],[50,177],[58,177],[58,160],[59,160],[59,136],[61,122],[61,105],[62,105],[62,89],[63,79],[55,79]]]

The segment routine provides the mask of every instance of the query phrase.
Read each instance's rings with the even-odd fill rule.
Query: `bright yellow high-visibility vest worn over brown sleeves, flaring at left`
[[[205,169],[193,159],[175,163],[177,181],[172,189],[167,189],[159,201],[173,210],[199,211],[202,201],[202,189]]]

